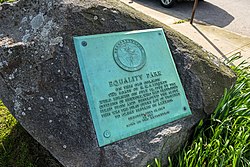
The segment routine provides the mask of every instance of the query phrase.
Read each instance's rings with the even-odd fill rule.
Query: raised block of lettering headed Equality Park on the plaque
[[[161,71],[153,71],[105,83],[113,91],[99,101],[101,117],[126,117],[129,127],[169,114],[165,104],[180,93],[176,83],[162,80],[161,75]]]

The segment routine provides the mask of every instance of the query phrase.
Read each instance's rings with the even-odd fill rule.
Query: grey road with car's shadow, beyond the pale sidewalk
[[[134,0],[161,13],[179,19],[190,18],[193,2],[179,2],[171,9],[160,6],[160,0]],[[205,0],[199,2],[195,19],[250,37],[250,0]]]

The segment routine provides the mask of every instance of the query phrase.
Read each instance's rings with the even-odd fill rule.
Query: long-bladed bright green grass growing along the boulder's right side
[[[225,90],[185,147],[168,157],[169,167],[250,166],[250,67],[243,64],[232,67],[238,76],[235,86]],[[148,167],[161,167],[159,159],[155,162]]]

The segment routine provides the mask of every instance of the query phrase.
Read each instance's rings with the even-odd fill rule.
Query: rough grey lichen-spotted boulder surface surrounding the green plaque
[[[99,148],[72,37],[154,27],[165,30],[193,114]],[[119,1],[20,0],[0,6],[0,98],[65,166],[146,166],[161,152],[166,160],[234,81],[217,58]]]

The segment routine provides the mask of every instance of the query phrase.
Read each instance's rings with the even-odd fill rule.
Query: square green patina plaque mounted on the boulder
[[[99,146],[190,115],[162,29],[74,37]]]

